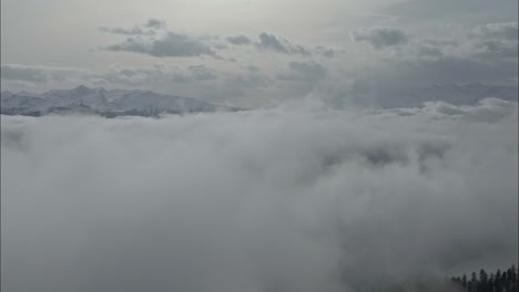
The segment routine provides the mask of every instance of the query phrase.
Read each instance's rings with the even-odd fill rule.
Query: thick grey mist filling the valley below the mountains
[[[518,258],[517,103],[1,116],[6,291],[362,291]]]

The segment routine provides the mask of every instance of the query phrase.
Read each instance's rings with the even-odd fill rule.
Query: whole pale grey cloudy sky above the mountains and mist
[[[516,0],[2,0],[2,90],[79,84],[258,107],[518,84]]]

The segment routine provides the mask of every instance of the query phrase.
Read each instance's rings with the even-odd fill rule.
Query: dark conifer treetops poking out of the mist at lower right
[[[518,292],[518,273],[516,265],[506,271],[497,270],[488,274],[484,269],[479,273],[472,272],[470,279],[462,277],[452,277],[450,279],[460,291],[469,292]]]

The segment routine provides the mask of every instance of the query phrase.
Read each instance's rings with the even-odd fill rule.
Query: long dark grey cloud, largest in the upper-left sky
[[[104,48],[112,52],[134,52],[153,56],[199,56],[215,55],[213,50],[203,42],[187,36],[167,32],[164,36],[147,40],[140,36],[128,38],[125,41]]]

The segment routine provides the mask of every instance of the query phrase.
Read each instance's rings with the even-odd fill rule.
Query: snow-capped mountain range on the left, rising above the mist
[[[83,113],[106,117],[238,109],[151,91],[89,88],[84,85],[72,90],[52,90],[43,94],[4,91],[1,93],[0,108],[3,115],[41,116],[52,113]]]

